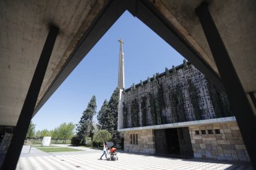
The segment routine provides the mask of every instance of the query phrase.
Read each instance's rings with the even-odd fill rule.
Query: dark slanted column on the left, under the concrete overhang
[[[51,26],[1,169],[12,170],[17,166],[58,32],[58,28]]]

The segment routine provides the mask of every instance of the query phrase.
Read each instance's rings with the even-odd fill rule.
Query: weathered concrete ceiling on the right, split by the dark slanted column
[[[190,46],[218,73],[194,9],[202,0],[150,0]],[[256,91],[256,1],[210,1],[209,9],[245,92]]]

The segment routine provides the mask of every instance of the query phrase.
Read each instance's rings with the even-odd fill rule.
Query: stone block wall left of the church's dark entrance
[[[130,134],[138,134],[138,145],[130,144]],[[155,154],[154,131],[150,129],[125,132],[124,151]]]

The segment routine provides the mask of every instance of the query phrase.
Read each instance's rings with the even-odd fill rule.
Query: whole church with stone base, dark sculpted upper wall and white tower
[[[119,42],[118,129],[125,151],[249,161],[224,92],[185,60],[124,89]]]

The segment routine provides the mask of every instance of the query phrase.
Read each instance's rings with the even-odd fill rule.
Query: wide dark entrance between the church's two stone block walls
[[[193,156],[188,127],[155,130],[156,155]]]

